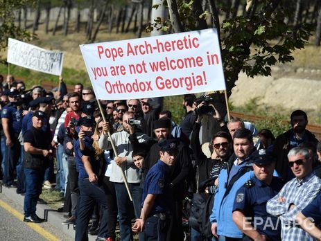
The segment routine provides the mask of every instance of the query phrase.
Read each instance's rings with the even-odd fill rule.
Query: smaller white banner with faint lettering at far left
[[[61,75],[62,52],[47,51],[16,39],[8,39],[7,62],[52,75]]]

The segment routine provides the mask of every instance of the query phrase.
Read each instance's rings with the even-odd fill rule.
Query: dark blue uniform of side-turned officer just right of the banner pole
[[[150,168],[144,181],[143,198],[156,194],[153,208],[145,221],[144,236],[146,240],[166,240],[169,215],[173,212],[173,193],[171,192],[170,168],[163,161]],[[144,201],[141,206],[143,206]]]

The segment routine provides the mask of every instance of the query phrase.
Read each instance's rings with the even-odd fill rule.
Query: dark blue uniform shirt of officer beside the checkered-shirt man
[[[245,217],[250,217],[246,222],[251,222],[269,240],[281,240],[281,225],[277,217],[266,212],[266,203],[279,193],[282,186],[283,182],[278,177],[273,177],[270,185],[253,177],[238,189],[234,200],[233,211],[242,211]],[[251,239],[245,237],[243,240]]]

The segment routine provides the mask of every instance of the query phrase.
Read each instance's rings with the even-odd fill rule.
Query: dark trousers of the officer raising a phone
[[[75,241],[88,240],[87,226],[92,214],[94,204],[101,204],[103,210],[98,237],[107,238],[107,198],[105,192],[97,183],[92,183],[88,178],[78,179],[80,199],[76,211],[76,234]]]

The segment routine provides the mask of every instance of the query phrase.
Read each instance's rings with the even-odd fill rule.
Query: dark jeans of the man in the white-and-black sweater
[[[130,198],[128,196],[125,184],[114,182],[119,213],[119,227],[121,229],[122,241],[133,240],[131,224],[132,215],[130,215],[132,208],[134,208],[135,217],[138,218],[141,215],[142,191],[141,188],[139,188],[139,185],[140,184],[128,184],[130,193],[132,194],[132,202],[130,202]],[[142,233],[140,233],[140,235],[141,234]]]

